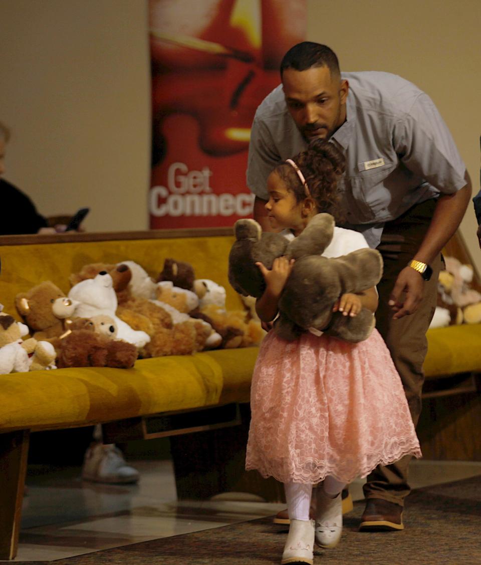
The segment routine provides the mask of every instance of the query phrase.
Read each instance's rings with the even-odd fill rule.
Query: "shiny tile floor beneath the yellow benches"
[[[85,483],[80,480],[80,467],[53,471],[30,466],[15,562],[54,561],[217,528],[273,515],[284,507],[248,496],[178,502],[170,460],[129,463],[141,473],[138,485]],[[481,475],[481,462],[421,460],[411,467],[414,488],[474,475]],[[352,485],[351,493],[355,500],[362,498],[362,481]]]

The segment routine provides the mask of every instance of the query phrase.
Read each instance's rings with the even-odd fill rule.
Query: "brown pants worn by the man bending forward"
[[[421,414],[422,370],[427,353],[426,332],[436,307],[436,288],[441,269],[441,257],[431,264],[431,280],[424,283],[424,294],[414,314],[393,320],[388,300],[397,275],[413,259],[431,223],[436,201],[428,200],[410,208],[405,214],[386,223],[381,243],[377,247],[384,260],[384,272],[378,284],[379,306],[376,327],[381,333],[403,382],[414,425]],[[382,498],[403,506],[409,492],[408,465],[411,456],[388,466],[379,466],[364,485],[366,498]]]

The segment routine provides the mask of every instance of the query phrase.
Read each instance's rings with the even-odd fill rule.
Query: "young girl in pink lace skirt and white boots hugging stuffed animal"
[[[341,220],[336,185],[343,167],[342,153],[321,140],[280,164],[267,181],[272,226],[294,238],[319,212]],[[323,255],[339,257],[361,247],[368,245],[360,233],[335,227]],[[293,262],[280,257],[272,270],[258,266],[266,289],[256,310],[269,323]],[[334,311],[356,316],[366,307],[374,313],[377,302],[371,288],[343,294]],[[356,476],[407,454],[421,457],[400,377],[377,330],[357,344],[318,333],[287,342],[270,331],[252,378],[246,468],[285,485],[290,528],[282,564],[312,564],[314,537],[321,547],[338,544],[340,493]],[[309,506],[317,483],[314,521]]]

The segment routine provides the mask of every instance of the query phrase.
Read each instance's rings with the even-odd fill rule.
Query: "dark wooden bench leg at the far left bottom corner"
[[[0,434],[0,559],[17,554],[29,430]]]

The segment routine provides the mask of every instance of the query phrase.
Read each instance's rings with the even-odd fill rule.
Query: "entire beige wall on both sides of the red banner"
[[[147,228],[147,19],[147,0],[0,0],[6,177],[43,214],[87,205],[89,231]],[[308,39],[343,69],[394,72],[430,94],[476,192],[480,21],[479,0],[308,0]],[[481,270],[471,206],[461,230]]]

